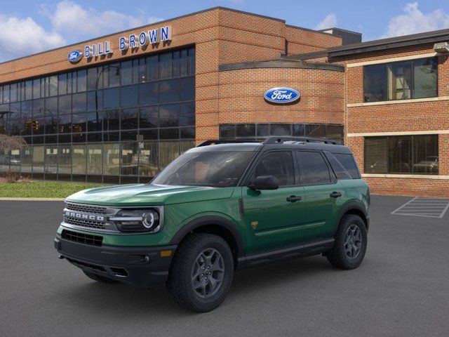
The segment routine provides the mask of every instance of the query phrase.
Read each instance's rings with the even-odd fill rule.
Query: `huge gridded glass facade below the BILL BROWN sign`
[[[0,132],[29,144],[1,161],[39,179],[155,176],[195,146],[194,75],[191,47],[0,86]]]

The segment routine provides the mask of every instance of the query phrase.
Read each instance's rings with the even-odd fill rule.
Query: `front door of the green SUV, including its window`
[[[274,176],[277,190],[242,188],[246,253],[268,251],[301,241],[304,223],[304,187],[297,185],[295,158],[291,151],[273,150],[262,154],[250,171],[248,184],[257,176]]]

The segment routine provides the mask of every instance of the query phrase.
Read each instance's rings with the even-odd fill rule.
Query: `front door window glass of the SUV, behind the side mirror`
[[[254,178],[258,176],[275,176],[279,186],[295,185],[295,170],[291,152],[270,152],[257,163]]]

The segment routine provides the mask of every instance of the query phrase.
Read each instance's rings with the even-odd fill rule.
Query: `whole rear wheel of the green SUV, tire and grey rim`
[[[347,214],[340,221],[328,260],[335,267],[354,269],[365,257],[367,242],[363,220],[354,214]]]

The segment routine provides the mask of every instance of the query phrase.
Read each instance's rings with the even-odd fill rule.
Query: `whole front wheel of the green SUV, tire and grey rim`
[[[233,277],[234,258],[225,240],[192,233],[177,247],[167,287],[182,308],[208,312],[225,300]]]

